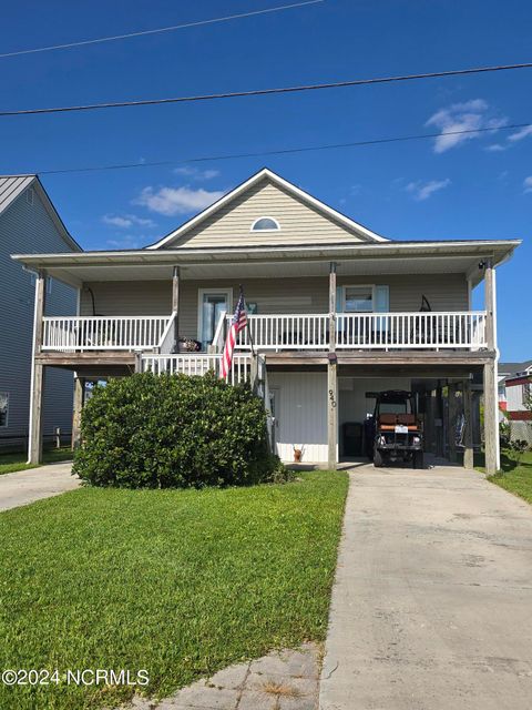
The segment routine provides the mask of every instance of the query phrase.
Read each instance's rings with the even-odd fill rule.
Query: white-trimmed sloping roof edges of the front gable
[[[268,179],[274,185],[277,185],[278,187],[283,189],[285,192],[293,195],[297,200],[300,200],[301,202],[308,204],[309,206],[314,207],[318,212],[321,212],[326,216],[331,217],[332,220],[338,222],[340,225],[346,226],[348,230],[357,232],[357,235],[361,239],[361,241],[364,242],[389,242],[390,241],[383,236],[380,236],[379,234],[376,234],[375,232],[371,232],[370,230],[362,226],[358,222],[355,222],[354,220],[346,216],[345,214],[341,214],[341,212],[334,210],[329,205],[325,204],[325,202],[321,202],[317,197],[314,197],[313,195],[310,195],[308,192],[305,192],[300,187],[297,187],[291,182],[288,182],[280,175],[277,175],[277,173],[274,173],[268,168],[263,168],[263,170],[259,170],[257,173],[248,178],[245,182],[237,185],[234,190],[231,190],[223,197],[214,202],[211,206],[206,207],[206,210],[203,210],[203,212],[200,212],[198,214],[196,214],[194,217],[192,217],[191,220],[182,224],[180,227],[177,227],[177,230],[174,230],[173,232],[167,234],[165,237],[163,237],[158,242],[155,242],[155,244],[151,244],[150,246],[146,246],[146,248],[149,250],[161,248],[162,246],[165,246],[171,242],[175,242],[180,237],[184,236],[190,230],[198,226],[202,222],[204,222],[209,216],[215,214],[218,210],[222,210],[223,207],[225,207],[229,202],[233,202],[234,200],[236,200],[246,190],[249,190],[250,187],[256,185],[258,182],[260,182],[265,178]]]

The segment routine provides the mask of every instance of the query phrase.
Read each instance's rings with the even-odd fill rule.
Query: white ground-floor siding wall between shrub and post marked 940
[[[277,454],[294,462],[294,446],[304,447],[304,464],[327,463],[327,374],[268,373],[276,393]]]

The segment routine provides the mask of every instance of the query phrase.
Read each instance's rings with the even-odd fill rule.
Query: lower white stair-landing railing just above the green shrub
[[[142,372],[152,371],[155,375],[205,375],[213,371],[219,373],[222,355],[152,355],[142,356]],[[235,385],[249,379],[252,356],[237,353],[233,356],[233,365],[226,381]]]

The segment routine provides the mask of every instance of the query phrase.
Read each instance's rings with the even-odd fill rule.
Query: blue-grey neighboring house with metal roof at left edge
[[[0,447],[24,447],[30,412],[32,333],[37,272],[13,263],[13,252],[72,253],[80,246],[68,233],[35,175],[0,176]],[[76,306],[76,293],[49,276],[47,315],[66,315]],[[50,369],[43,388],[42,433],[51,440],[59,427],[63,437],[72,427],[72,373]]]

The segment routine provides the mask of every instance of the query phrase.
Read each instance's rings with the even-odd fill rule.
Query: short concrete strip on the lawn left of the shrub
[[[78,488],[80,479],[71,476],[71,463],[49,464],[0,476],[0,511],[25,506]]]

